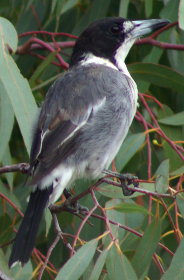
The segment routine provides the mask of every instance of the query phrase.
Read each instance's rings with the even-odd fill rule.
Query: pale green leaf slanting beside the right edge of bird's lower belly
[[[130,135],[123,142],[118,155],[115,158],[117,170],[122,170],[126,163],[139,151],[145,142],[144,133]]]

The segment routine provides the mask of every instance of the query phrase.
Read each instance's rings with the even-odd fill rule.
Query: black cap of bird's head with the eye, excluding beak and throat
[[[125,21],[121,17],[109,17],[90,24],[76,41],[70,66],[82,60],[87,53],[103,58],[113,57],[126,36],[123,32]]]

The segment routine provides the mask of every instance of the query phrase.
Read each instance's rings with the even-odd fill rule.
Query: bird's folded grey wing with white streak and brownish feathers
[[[32,142],[32,167],[37,160],[47,161],[58,146],[71,139],[87,122],[93,107],[100,106],[104,94],[103,90],[96,86],[95,78],[95,68],[94,71],[91,67],[83,70],[73,68],[50,87]],[[50,168],[46,172],[49,171]]]

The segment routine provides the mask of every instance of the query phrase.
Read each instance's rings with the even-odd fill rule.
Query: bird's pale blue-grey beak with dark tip
[[[168,25],[170,20],[168,19],[148,19],[148,20],[134,20],[132,21],[134,28],[131,31],[133,38],[143,36],[145,34],[156,31],[166,25]]]

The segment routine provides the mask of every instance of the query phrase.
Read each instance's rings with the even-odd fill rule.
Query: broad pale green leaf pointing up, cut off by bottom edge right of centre
[[[137,276],[128,259],[113,244],[106,257],[106,268],[109,279],[137,280]]]

